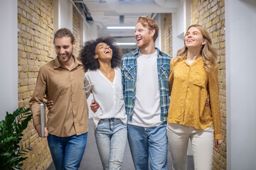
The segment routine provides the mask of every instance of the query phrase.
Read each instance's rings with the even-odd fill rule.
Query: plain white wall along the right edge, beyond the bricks
[[[256,1],[225,1],[228,169],[255,169]]]

